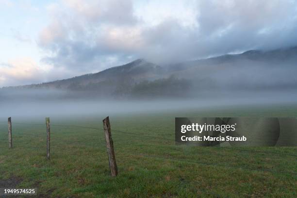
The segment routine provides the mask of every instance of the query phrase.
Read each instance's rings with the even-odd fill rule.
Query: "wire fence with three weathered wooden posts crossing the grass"
[[[175,140],[174,139],[169,139],[169,138],[163,138],[163,137],[157,137],[157,136],[150,136],[150,135],[144,135],[144,134],[139,134],[139,133],[134,133],[134,132],[127,132],[123,130],[116,130],[111,128],[111,124],[109,121],[109,117],[106,117],[103,119],[103,129],[98,128],[98,127],[88,127],[88,126],[80,126],[80,125],[61,125],[61,124],[51,124],[49,118],[46,118],[46,123],[45,124],[40,124],[40,123],[23,123],[23,122],[13,122],[11,117],[8,118],[8,141],[9,141],[9,148],[13,148],[13,145],[16,145],[15,143],[13,144],[13,139],[16,140],[14,137],[14,131],[13,131],[13,125],[14,124],[19,124],[19,125],[35,125],[35,126],[46,126],[45,131],[47,132],[47,141],[46,141],[46,157],[49,160],[50,159],[50,144],[52,141],[58,140],[52,139],[51,138],[51,127],[53,128],[61,128],[61,129],[69,129],[69,128],[81,128],[81,129],[87,129],[87,130],[95,130],[95,131],[100,131],[104,132],[104,137],[105,137],[105,146],[103,144],[96,144],[96,145],[80,145],[78,142],[71,142],[71,141],[66,141],[63,140],[63,143],[75,143],[76,146],[82,146],[82,147],[95,147],[95,148],[106,148],[107,149],[107,154],[108,154],[108,159],[109,159],[109,168],[112,176],[116,176],[118,174],[118,169],[116,165],[116,159],[115,159],[115,148],[114,148],[114,143],[112,139],[112,132],[119,132],[123,133],[126,135],[132,135],[133,137],[140,137],[140,138],[147,138],[147,139],[156,139],[156,140],[162,140],[166,142],[171,142],[175,145]],[[0,123],[5,123],[1,121]],[[63,133],[66,134],[66,133]],[[27,134],[28,135],[28,134]],[[14,137],[14,138],[13,138]],[[39,137],[37,135],[34,135],[34,137]],[[102,134],[103,137],[103,134]],[[0,139],[4,140],[4,139]],[[151,142],[152,143],[152,142]],[[152,143],[154,144],[154,143]],[[178,147],[178,146],[176,146]],[[40,148],[40,147],[30,147],[30,148]],[[291,154],[291,153],[282,153],[282,152],[273,152],[273,151],[262,151],[262,150],[254,150],[254,149],[244,149],[244,148],[232,148],[232,147],[215,147],[217,150],[222,150],[222,149],[229,149],[229,150],[235,150],[238,152],[252,152],[252,153],[263,153],[263,154],[269,154],[269,155],[280,155],[280,156],[290,156],[293,157],[294,160],[296,160],[297,155],[296,154]],[[155,155],[147,155],[147,154],[142,154],[142,153],[127,153],[128,155],[131,156],[138,156],[138,157],[143,157],[143,158],[153,158],[156,160],[167,160],[167,161],[178,161],[181,163],[187,163],[187,164],[199,164],[199,165],[208,165],[208,166],[223,166],[227,168],[241,168],[241,169],[247,169],[247,170],[252,170],[252,171],[268,171],[268,172],[275,172],[275,173],[280,173],[280,174],[289,174],[289,175],[297,175],[297,172],[292,172],[292,171],[284,171],[284,170],[274,170],[274,169],[269,169],[269,168],[261,168],[261,169],[256,169],[256,168],[250,168],[248,166],[235,166],[235,165],[226,165],[226,164],[217,164],[217,163],[205,163],[205,162],[199,162],[199,161],[194,161],[194,160],[188,160],[188,159],[176,159],[172,157],[165,157],[165,156],[155,156]]]

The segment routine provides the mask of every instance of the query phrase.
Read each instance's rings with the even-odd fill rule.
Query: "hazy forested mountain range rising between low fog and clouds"
[[[163,66],[138,59],[98,73],[3,89],[55,89],[71,92],[71,97],[114,98],[184,97],[193,90],[291,89],[297,86],[296,66],[297,47],[249,50]]]

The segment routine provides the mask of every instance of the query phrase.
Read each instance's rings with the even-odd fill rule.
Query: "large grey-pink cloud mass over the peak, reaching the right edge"
[[[49,52],[43,61],[82,72],[136,58],[168,63],[297,45],[296,1],[165,2],[64,0],[52,4],[51,22],[38,38],[39,46]]]

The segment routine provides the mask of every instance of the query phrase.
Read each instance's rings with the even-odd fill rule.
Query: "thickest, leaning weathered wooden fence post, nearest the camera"
[[[111,137],[111,129],[110,129],[110,122],[109,117],[107,116],[103,120],[104,132],[105,132],[105,140],[106,140],[106,148],[109,158],[109,168],[112,176],[117,175],[117,166],[115,162],[115,150],[114,150],[114,142]]]

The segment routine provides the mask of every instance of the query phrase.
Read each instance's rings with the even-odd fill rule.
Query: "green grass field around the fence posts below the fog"
[[[297,197],[297,147],[176,146],[178,116],[297,116],[297,105],[110,115],[117,177],[110,176],[102,130],[54,126],[102,129],[103,115],[50,117],[49,161],[45,125],[24,124],[44,118],[13,117],[12,149],[2,119],[0,185],[37,187],[39,197],[52,198]]]

